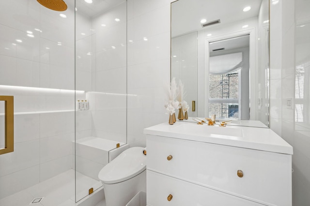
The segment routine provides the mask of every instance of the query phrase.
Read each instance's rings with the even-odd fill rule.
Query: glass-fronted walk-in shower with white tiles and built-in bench
[[[75,205],[128,147],[126,0],[64,1],[0,1],[0,206]]]

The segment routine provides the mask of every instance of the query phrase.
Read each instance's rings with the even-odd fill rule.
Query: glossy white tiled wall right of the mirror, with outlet
[[[270,77],[271,77],[271,129],[294,148],[293,205],[310,203],[310,114],[309,114],[309,34],[310,3],[303,0],[279,1],[271,4],[270,19]],[[304,27],[300,27],[305,25]],[[302,65],[306,77],[299,86],[304,87],[303,98],[297,92],[297,69]],[[308,73],[308,74],[307,74]],[[308,76],[307,76],[308,75]],[[296,94],[296,96],[295,96]],[[287,99],[293,100],[288,108]],[[304,107],[303,118],[297,122],[296,104]]]

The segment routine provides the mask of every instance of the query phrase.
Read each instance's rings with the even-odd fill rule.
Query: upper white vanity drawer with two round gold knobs
[[[292,204],[290,164],[291,155],[147,135],[149,170],[266,205]]]

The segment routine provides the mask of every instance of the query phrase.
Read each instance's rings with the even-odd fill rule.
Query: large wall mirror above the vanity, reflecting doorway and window
[[[189,117],[269,127],[269,0],[171,3],[171,78]]]

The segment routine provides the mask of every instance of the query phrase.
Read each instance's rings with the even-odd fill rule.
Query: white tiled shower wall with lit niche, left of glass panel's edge
[[[0,8],[0,95],[15,98],[15,151],[0,155],[2,198],[72,167],[74,8],[65,19],[33,0]],[[3,146],[2,127],[0,139]]]

